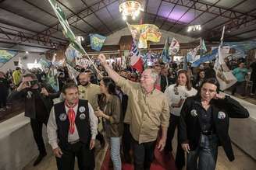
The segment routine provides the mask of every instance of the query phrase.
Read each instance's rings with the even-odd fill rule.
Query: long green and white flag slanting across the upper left
[[[56,16],[59,19],[60,24],[62,25],[62,32],[66,38],[69,39],[70,44],[81,54],[86,54],[84,47],[82,47],[81,43],[76,40],[76,36],[73,33],[72,29],[69,26],[68,20],[66,19],[65,13],[62,11],[59,3],[55,0],[48,0],[50,2],[52,9],[54,10]]]

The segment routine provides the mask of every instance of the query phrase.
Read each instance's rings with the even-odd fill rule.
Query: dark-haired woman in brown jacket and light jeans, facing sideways
[[[101,98],[96,116],[102,117],[107,141],[110,144],[110,154],[114,170],[121,170],[120,144],[123,134],[123,117],[121,102],[116,95],[116,84],[111,78],[104,77],[100,82]]]

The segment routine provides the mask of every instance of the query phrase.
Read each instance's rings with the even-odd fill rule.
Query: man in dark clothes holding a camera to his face
[[[24,99],[25,116],[30,117],[30,125],[34,135],[34,141],[37,143],[40,154],[34,161],[34,166],[39,164],[46,155],[44,140],[42,136],[43,124],[46,125],[50,110],[52,108],[52,99],[59,96],[53,89],[38,82],[37,76],[31,73],[23,75],[23,80],[19,87],[9,96],[9,101]]]

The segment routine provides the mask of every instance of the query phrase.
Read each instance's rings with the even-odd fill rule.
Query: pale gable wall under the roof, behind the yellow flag
[[[172,37],[175,37],[176,40],[178,40],[180,43],[189,43],[191,41],[197,40],[194,38],[191,38],[189,36],[183,36],[177,33],[172,33],[169,31],[165,31],[163,29],[160,30],[162,33],[161,36],[161,40],[159,43],[152,43],[151,44],[165,44],[165,40],[167,37],[169,37],[169,43],[172,42]],[[119,44],[119,39],[121,36],[130,36],[130,30],[128,29],[128,27],[123,28],[119,31],[116,31],[116,33],[112,33],[111,35],[109,35],[104,43],[104,45],[117,45]]]

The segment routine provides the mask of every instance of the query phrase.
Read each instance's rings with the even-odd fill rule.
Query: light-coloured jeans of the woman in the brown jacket
[[[121,144],[121,137],[110,137],[110,154],[111,154],[114,170],[122,169],[120,144]]]

